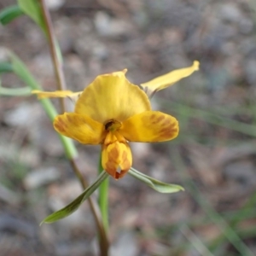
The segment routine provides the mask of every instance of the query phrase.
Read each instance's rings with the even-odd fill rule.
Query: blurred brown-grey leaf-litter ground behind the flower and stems
[[[201,62],[199,72],[152,99],[154,109],[179,120],[177,139],[132,144],[137,170],[185,191],[162,195],[128,174],[111,179],[111,255],[255,255],[256,2],[48,3],[69,90],[124,68],[140,84]],[[0,9],[11,4],[0,0]],[[20,56],[44,90],[55,90],[49,47],[32,20],[0,26],[0,46]],[[25,85],[13,74],[1,79],[5,87]],[[78,148],[79,166],[93,182],[100,147]],[[35,96],[1,96],[0,165],[1,256],[95,255],[87,202],[69,218],[38,225],[82,189]]]

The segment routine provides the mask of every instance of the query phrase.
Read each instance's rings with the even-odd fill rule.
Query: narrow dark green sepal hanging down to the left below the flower
[[[100,184],[108,177],[107,172],[102,172],[100,176],[97,177],[96,181],[90,185],[84,192],[79,195],[74,201],[72,201],[67,207],[50,214],[48,217],[44,218],[41,224],[53,223],[61,218],[65,218],[75,212],[81,204],[100,186]],[[40,225],[41,225],[40,224]]]

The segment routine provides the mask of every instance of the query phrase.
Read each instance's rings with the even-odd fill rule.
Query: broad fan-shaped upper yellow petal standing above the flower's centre
[[[79,97],[75,113],[84,113],[103,124],[109,119],[121,122],[150,109],[148,96],[125,79],[124,70],[96,77]]]

